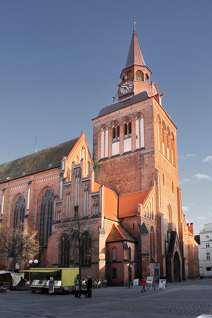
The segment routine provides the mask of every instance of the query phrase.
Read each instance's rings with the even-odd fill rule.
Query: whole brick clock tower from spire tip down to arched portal
[[[150,76],[134,22],[114,102],[93,119],[95,181],[119,195],[121,224],[131,233],[135,222],[139,226],[135,235],[137,274],[148,275],[156,262],[161,276],[181,280],[188,273],[183,251],[185,217],[178,187],[176,126],[162,107],[162,95]],[[132,219],[132,204],[136,206],[136,197],[145,191],[149,194],[144,201],[136,202],[138,213],[134,212]]]

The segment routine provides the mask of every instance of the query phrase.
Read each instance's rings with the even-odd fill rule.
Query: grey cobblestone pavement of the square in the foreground
[[[108,287],[92,294],[78,299],[7,291],[0,293],[0,318],[197,318],[212,310],[211,279],[168,283],[165,291],[158,291],[156,284],[146,293],[141,293],[141,287]]]

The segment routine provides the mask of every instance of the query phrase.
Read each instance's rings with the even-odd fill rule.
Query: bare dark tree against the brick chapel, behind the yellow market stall
[[[78,256],[79,275],[81,277],[82,264],[89,264],[91,254],[95,252],[95,242],[93,232],[87,220],[75,219],[61,226],[61,234],[67,236],[69,241],[70,256]],[[76,256],[76,257],[77,257]]]

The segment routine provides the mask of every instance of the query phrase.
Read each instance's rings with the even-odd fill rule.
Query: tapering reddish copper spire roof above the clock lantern
[[[141,48],[139,45],[139,41],[136,35],[135,30],[135,22],[134,22],[134,29],[133,29],[133,36],[130,44],[130,50],[127,57],[127,62],[125,67],[127,68],[130,65],[141,65],[146,66],[144,58],[141,53]]]

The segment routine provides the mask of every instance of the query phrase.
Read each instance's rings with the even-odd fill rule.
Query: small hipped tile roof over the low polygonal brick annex
[[[120,224],[113,224],[113,227],[110,231],[106,242],[114,242],[114,241],[123,241],[126,240],[128,242],[137,242],[135,239],[125,228],[123,228]]]

